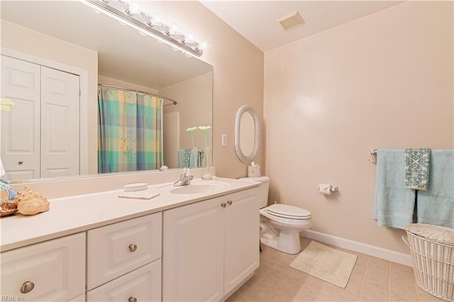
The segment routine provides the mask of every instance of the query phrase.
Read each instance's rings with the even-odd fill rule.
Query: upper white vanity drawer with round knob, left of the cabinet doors
[[[161,257],[161,213],[87,232],[87,289]]]

